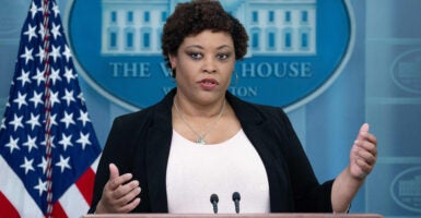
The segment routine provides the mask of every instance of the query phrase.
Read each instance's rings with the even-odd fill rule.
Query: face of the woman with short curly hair
[[[169,56],[176,70],[177,95],[198,104],[211,104],[225,96],[235,65],[231,35],[203,31],[184,39],[176,56]]]

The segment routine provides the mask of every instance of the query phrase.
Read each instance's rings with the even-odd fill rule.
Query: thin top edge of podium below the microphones
[[[378,214],[103,214],[81,218],[383,218]]]

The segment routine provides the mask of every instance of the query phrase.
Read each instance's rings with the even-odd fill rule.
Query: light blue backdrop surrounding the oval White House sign
[[[30,2],[1,0],[1,116]],[[349,61],[328,88],[288,114],[320,181],[335,178],[348,165],[358,130],[369,122],[378,138],[378,161],[354,199],[351,213],[420,217],[421,1],[350,2],[355,39]],[[57,3],[66,21],[74,2],[57,0]],[[104,145],[113,119],[130,109],[104,97],[81,73],[79,80],[97,137]]]

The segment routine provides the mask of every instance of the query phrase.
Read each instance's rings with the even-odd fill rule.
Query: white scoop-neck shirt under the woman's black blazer
[[[233,192],[241,194],[239,213],[269,213],[269,183],[265,166],[243,130],[213,145],[199,145],[173,131],[166,171],[168,211],[235,214]]]

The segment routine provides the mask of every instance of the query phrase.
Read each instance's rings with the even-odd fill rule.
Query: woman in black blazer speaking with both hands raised
[[[376,161],[363,124],[349,166],[319,184],[280,108],[227,92],[247,48],[243,25],[218,1],[180,3],[163,32],[176,88],[117,118],[95,179],[91,213],[344,213]]]

